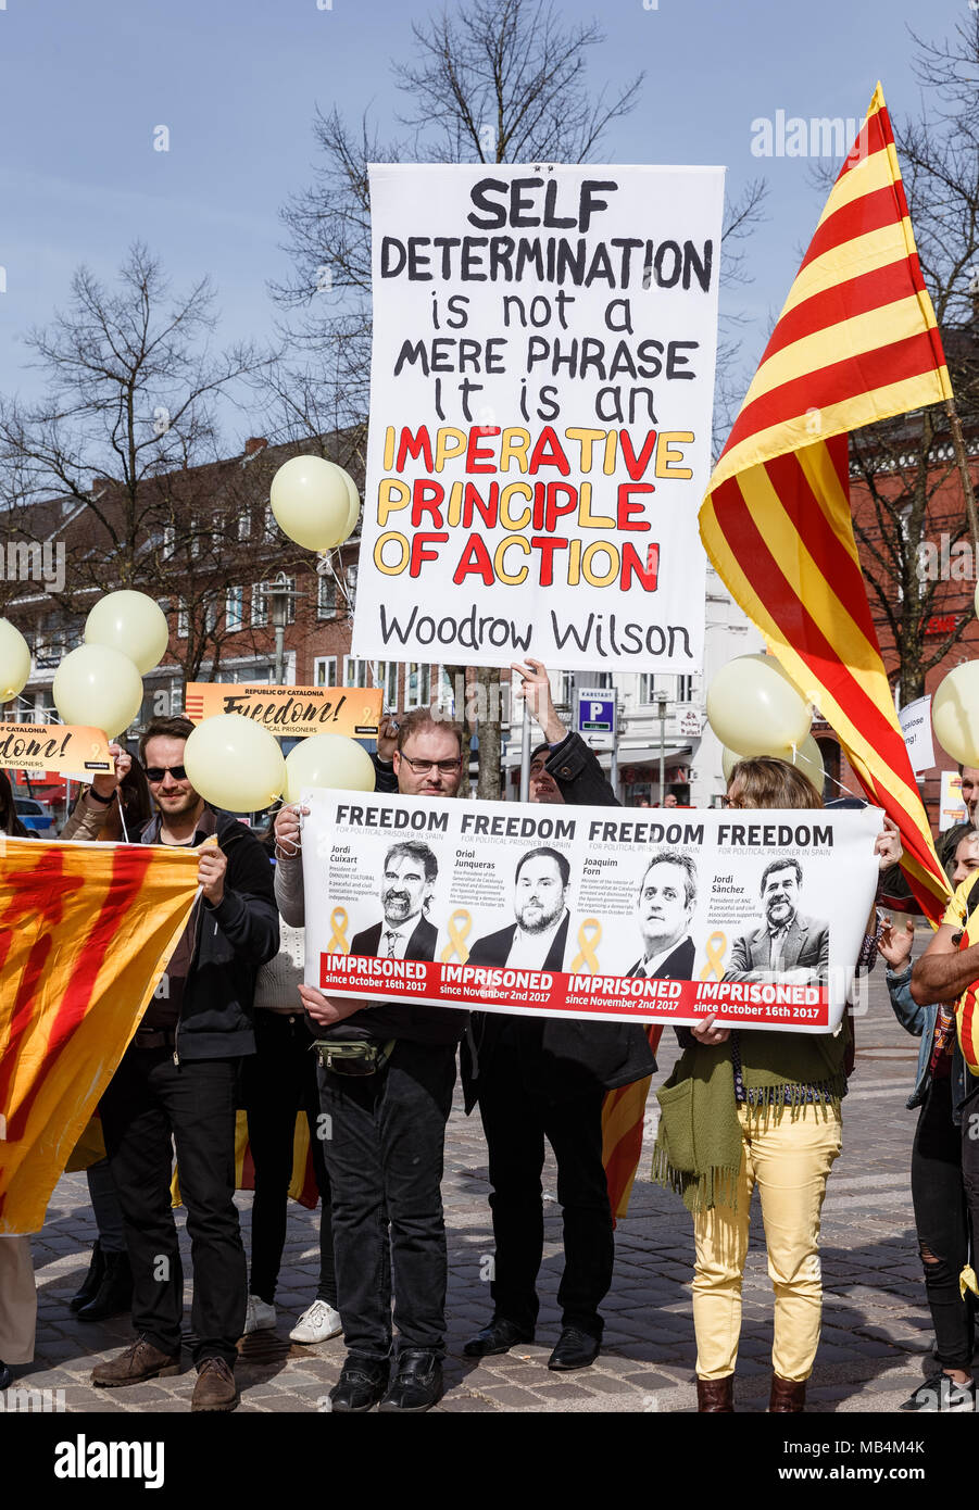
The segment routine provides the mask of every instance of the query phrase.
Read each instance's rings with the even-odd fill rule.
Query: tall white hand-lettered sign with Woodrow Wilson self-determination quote
[[[354,654],[703,660],[721,168],[370,169]]]

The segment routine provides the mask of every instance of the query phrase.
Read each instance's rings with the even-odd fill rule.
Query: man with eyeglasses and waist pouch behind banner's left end
[[[393,772],[403,796],[455,797],[462,761],[462,731],[456,723],[434,719],[428,708],[402,720]],[[276,900],[284,920],[299,927],[305,923],[299,808],[283,808],[275,837]],[[402,852],[403,865],[388,880],[388,865],[397,859],[394,850]],[[385,858],[385,889],[399,897],[403,892],[399,912],[415,900],[422,904],[434,883],[423,850],[422,844],[400,844]],[[385,918],[388,911],[385,903]],[[387,951],[381,938],[370,950],[366,945],[373,938],[358,936],[354,942],[366,953]],[[409,945],[396,941],[394,948],[402,947]],[[408,1001],[364,1004],[325,997],[313,986],[301,986],[299,994],[322,1045],[323,1157],[332,1190],[338,1309],[347,1345],[340,1382],[329,1394],[331,1407],[355,1412],[379,1404],[384,1412],[429,1410],[443,1388],[449,1255],[441,1176],[456,1043],[465,1013]],[[391,1320],[399,1333],[394,1368]]]

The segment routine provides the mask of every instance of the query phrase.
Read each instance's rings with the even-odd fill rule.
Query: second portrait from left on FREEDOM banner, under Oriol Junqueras
[[[561,850],[542,844],[521,855],[514,877],[517,921],[476,939],[468,963],[564,969],[568,942],[565,892],[570,879],[571,867]]]

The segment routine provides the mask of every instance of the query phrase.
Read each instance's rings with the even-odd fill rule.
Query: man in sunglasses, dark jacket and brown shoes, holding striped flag
[[[278,951],[272,867],[254,835],[215,812],[190,785],[187,719],[154,719],[139,741],[157,815],[144,844],[202,846],[201,897],[166,975],[100,1102],[133,1268],[137,1341],[100,1364],[92,1383],[136,1385],[180,1370],[183,1273],[171,1210],[172,1143],[193,1256],[198,1379],[192,1410],[233,1410],[236,1344],[248,1276],[234,1206],[237,1066],[254,1054],[258,968]],[[85,805],[101,826],[115,776],[97,776]],[[85,837],[79,830],[76,837]],[[172,1143],[171,1143],[172,1140]]]

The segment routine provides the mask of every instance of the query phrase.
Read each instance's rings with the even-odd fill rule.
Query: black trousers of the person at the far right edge
[[[962,1184],[962,1134],[952,1120],[952,1083],[934,1080],[922,1105],[911,1152],[911,1199],[925,1268],[925,1293],[944,1368],[971,1370],[973,1305],[959,1274],[968,1256]],[[929,1255],[935,1262],[925,1261]]]

